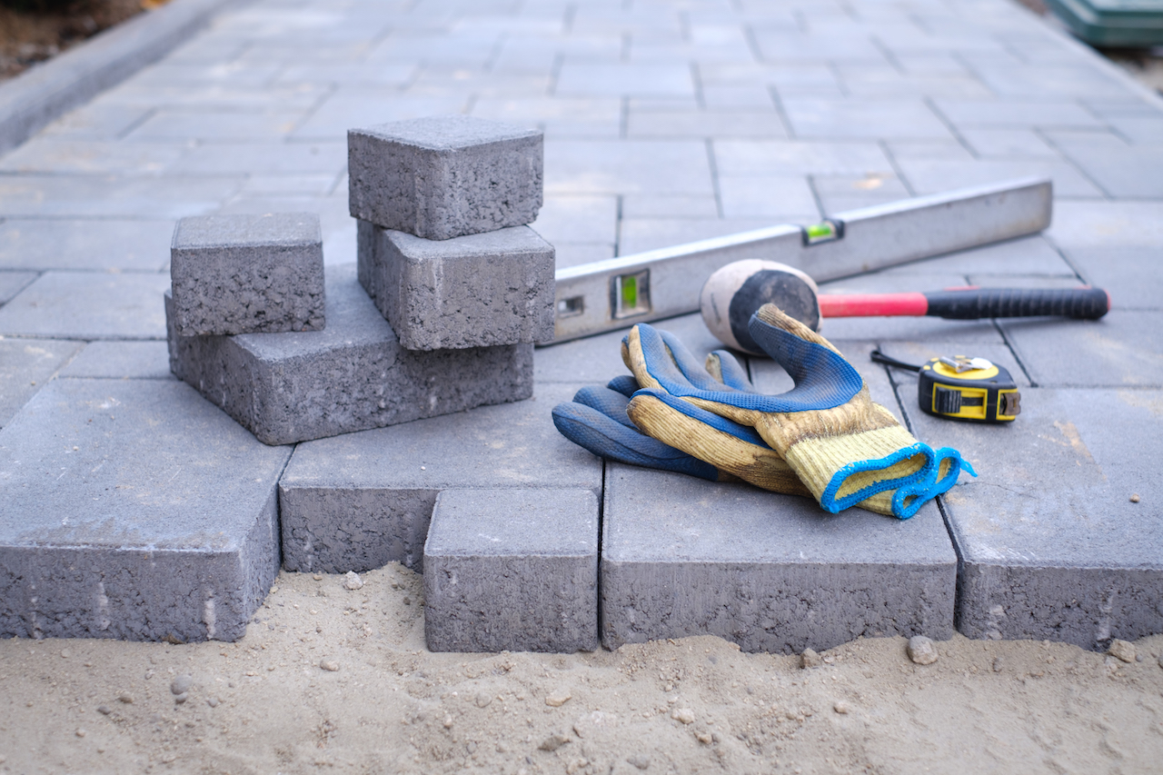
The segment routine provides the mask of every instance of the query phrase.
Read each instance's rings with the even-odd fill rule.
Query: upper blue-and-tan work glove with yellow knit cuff
[[[764,305],[748,329],[792,377],[792,390],[763,396],[692,379],[659,332],[645,323],[632,328],[622,357],[642,388],[627,410],[634,424],[708,461],[718,461],[718,452],[705,454],[705,434],[690,422],[706,425],[697,410],[752,427],[832,513],[861,505],[907,519],[951,488],[963,467],[973,474],[956,450],[916,441],[871,400],[864,379],[840,351],[804,323]]]

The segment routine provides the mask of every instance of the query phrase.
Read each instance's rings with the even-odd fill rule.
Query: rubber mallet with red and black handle
[[[775,261],[749,258],[721,268],[699,294],[702,320],[725,344],[744,353],[761,350],[747,323],[764,304],[775,304],[812,330],[821,318],[932,315],[949,320],[1061,315],[1098,320],[1111,310],[1111,296],[1100,287],[1018,289],[959,287],[928,293],[820,293],[798,269]]]

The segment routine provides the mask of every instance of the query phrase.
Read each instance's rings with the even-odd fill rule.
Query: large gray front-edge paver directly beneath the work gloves
[[[699,504],[698,507],[694,504]],[[612,463],[602,644],[719,635],[745,652],[952,637],[956,556],[936,504],[898,520]]]

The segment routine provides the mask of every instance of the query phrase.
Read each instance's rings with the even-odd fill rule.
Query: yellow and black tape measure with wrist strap
[[[916,400],[934,417],[973,422],[1011,422],[1021,413],[1021,393],[1013,377],[986,358],[964,355],[932,358],[922,365],[890,358],[872,350],[877,363],[916,371]]]

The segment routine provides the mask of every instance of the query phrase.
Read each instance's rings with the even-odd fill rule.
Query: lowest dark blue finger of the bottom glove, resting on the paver
[[[563,436],[605,460],[677,471],[711,482],[720,478],[714,465],[615,422],[590,406],[558,404],[552,414],[554,425]]]

